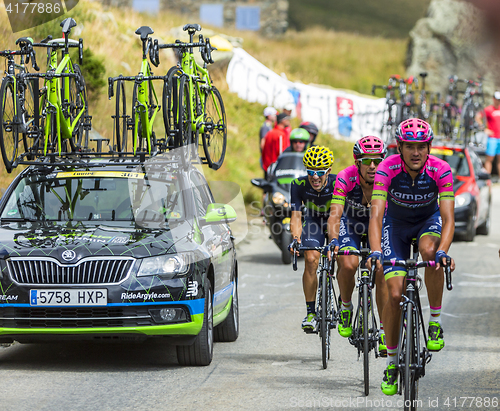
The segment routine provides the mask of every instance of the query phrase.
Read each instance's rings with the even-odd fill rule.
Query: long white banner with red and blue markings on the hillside
[[[235,48],[226,80],[229,90],[249,102],[278,110],[293,102],[303,121],[335,137],[355,141],[380,135],[384,123],[384,98],[353,91],[291,82],[270,70],[245,50]]]

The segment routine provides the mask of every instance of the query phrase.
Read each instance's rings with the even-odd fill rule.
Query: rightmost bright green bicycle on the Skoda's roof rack
[[[184,31],[189,34],[189,42],[176,40],[171,44],[154,41],[155,62],[159,63],[159,50],[171,48],[178,51],[180,62],[170,68],[163,90],[163,119],[167,138],[174,147],[192,146],[189,157],[199,158],[214,170],[224,161],[227,144],[226,112],[219,90],[213,85],[207,65],[213,63],[209,38],[199,35],[199,24],[186,24]],[[194,58],[194,48],[199,48],[203,66]],[[201,134],[201,143],[199,135]],[[203,153],[200,146],[203,146]]]

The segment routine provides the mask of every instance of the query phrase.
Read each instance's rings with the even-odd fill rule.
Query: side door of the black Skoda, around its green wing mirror
[[[191,173],[193,196],[197,217],[204,217],[207,207],[214,203],[205,178],[198,172]],[[202,228],[204,244],[211,254],[214,267],[214,315],[221,312],[231,295],[232,240],[227,224],[209,224]]]

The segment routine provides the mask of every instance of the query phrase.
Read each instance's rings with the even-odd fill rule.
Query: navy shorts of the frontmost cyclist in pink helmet
[[[384,261],[391,258],[397,260],[410,258],[412,239],[416,238],[418,241],[424,235],[441,237],[441,226],[442,220],[439,210],[428,219],[417,224],[395,220],[386,215],[382,230]],[[384,264],[384,275],[386,280],[391,277],[405,276],[406,270],[402,267],[386,266]]]

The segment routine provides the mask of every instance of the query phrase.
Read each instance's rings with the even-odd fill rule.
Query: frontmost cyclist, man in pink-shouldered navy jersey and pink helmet
[[[422,259],[436,261],[435,268],[425,269],[430,305],[427,348],[439,351],[444,347],[440,319],[444,286],[442,266],[449,258],[447,253],[453,239],[455,218],[453,176],[448,163],[429,155],[433,136],[430,125],[417,118],[405,120],[398,126],[399,154],[386,158],[375,175],[368,235],[372,249],[370,257],[377,260],[377,267],[381,266],[381,261],[391,258],[408,259],[413,238],[418,241]],[[450,268],[455,269],[453,259]],[[387,369],[381,389],[386,395],[394,395],[398,391],[399,303],[406,271],[384,265],[384,275],[389,298],[383,311]]]

